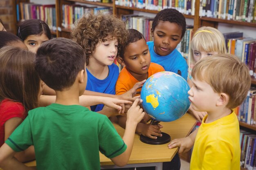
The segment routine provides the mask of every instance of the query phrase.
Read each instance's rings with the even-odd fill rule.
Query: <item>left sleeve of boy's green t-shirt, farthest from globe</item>
[[[12,132],[5,143],[15,152],[26,150],[33,145],[29,116]]]

